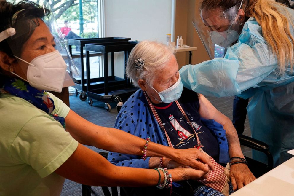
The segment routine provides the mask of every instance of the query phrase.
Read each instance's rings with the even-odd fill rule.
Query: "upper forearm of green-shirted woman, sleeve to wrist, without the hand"
[[[126,133],[122,130],[95,125],[80,117],[72,110],[65,118],[66,131],[81,144],[124,154],[143,155],[146,139]],[[167,146],[149,142],[148,157],[179,158],[180,152]]]

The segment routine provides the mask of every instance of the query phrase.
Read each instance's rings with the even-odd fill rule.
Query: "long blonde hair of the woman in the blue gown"
[[[290,32],[292,18],[285,5],[274,0],[243,0],[247,5],[246,17],[253,17],[261,26],[262,34],[269,48],[277,56],[280,73],[284,73],[285,66],[291,70],[294,64],[293,44],[294,39]],[[201,10],[221,8],[223,11],[240,4],[241,0],[203,0]],[[285,11],[285,15],[280,10]]]

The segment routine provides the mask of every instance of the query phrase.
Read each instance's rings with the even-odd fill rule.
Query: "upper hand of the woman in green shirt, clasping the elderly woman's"
[[[198,149],[188,148],[177,150],[177,154],[173,160],[177,161],[178,163],[188,165],[191,168],[199,169],[205,172],[208,170],[214,171],[214,166],[210,161],[210,158],[206,154],[200,152]]]

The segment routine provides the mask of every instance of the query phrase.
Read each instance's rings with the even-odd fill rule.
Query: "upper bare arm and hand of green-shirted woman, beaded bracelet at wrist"
[[[95,125],[70,110],[65,117],[66,131],[81,144],[95,146],[113,152],[142,155],[146,140],[138,138],[122,130]],[[208,171],[214,169],[211,161],[197,149],[174,149],[149,142],[148,157],[167,157],[179,163]],[[204,165],[203,163],[207,163]]]

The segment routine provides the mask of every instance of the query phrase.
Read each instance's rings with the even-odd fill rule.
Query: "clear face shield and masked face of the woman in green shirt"
[[[79,76],[78,69],[49,2],[39,5],[39,12],[44,11],[43,18],[26,15],[26,10],[20,10],[0,33],[0,42],[8,43],[12,52],[8,55],[13,55],[17,61],[18,65],[10,71],[12,74],[39,90],[61,92],[63,87],[74,85],[73,78]]]

